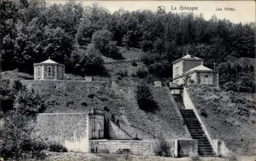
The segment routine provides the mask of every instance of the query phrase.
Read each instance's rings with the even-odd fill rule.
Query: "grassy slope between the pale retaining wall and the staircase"
[[[182,122],[170,102],[166,89],[153,88],[159,111],[155,114],[139,109],[135,98],[135,82],[95,81],[32,81],[23,80],[28,87],[36,89],[47,102],[47,113],[89,112],[91,108],[114,114],[122,128],[135,137],[157,138],[160,131],[165,138],[188,138]]]

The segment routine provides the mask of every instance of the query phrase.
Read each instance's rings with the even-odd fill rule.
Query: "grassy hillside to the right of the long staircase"
[[[223,139],[242,155],[255,155],[255,94],[205,86],[188,89],[212,139]]]

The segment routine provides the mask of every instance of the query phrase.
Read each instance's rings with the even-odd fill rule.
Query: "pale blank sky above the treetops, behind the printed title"
[[[46,0],[49,4],[65,4],[68,1],[64,0]],[[128,11],[136,10],[152,10],[157,11],[158,6],[164,6],[165,12],[194,12],[195,15],[203,14],[203,17],[208,20],[211,16],[216,15],[219,19],[228,19],[234,23],[249,23],[255,22],[255,2],[254,1],[76,1],[81,2],[86,6],[91,6],[93,3],[98,3],[100,6],[108,9],[111,13],[123,8]],[[184,11],[180,8],[186,6],[194,11]],[[175,10],[176,7],[176,10]],[[197,7],[197,10],[196,10]],[[225,8],[232,8],[235,11],[228,11]]]

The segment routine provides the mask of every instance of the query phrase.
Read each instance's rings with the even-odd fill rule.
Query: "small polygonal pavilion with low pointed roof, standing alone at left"
[[[34,63],[34,79],[64,79],[64,73],[65,65],[54,62],[50,57],[44,62]]]

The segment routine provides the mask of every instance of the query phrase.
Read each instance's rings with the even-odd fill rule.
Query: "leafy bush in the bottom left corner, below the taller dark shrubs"
[[[30,118],[9,112],[5,126],[0,132],[0,156],[4,159],[44,159],[47,145],[38,138],[32,138],[33,126]]]

